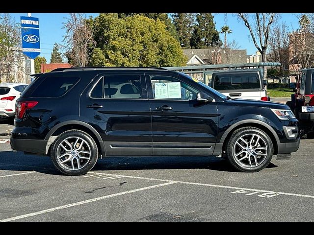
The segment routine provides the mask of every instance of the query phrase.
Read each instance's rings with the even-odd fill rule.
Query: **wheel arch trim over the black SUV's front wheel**
[[[264,131],[270,137],[271,141],[273,142],[273,146],[274,146],[274,155],[277,155],[278,143],[280,142],[280,140],[279,140],[276,132],[267,123],[260,121],[260,120],[255,120],[255,119],[241,120],[241,121],[238,121],[238,122],[234,123],[233,125],[231,125],[225,131],[225,133],[222,135],[222,137],[220,139],[220,143],[223,143],[222,151],[225,151],[226,144],[227,144],[228,140],[230,139],[230,136],[232,135],[232,133],[235,130],[237,130],[241,127],[250,127],[250,126],[260,128],[262,131]]]

